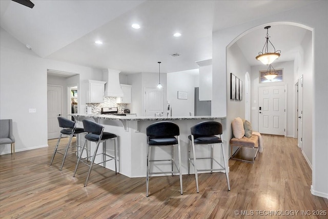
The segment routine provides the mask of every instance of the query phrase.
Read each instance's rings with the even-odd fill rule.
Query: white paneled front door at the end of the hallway
[[[285,87],[258,88],[258,127],[263,134],[284,135]]]

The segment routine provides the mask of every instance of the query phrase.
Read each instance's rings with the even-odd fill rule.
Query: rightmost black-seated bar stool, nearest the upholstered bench
[[[230,184],[229,184],[229,175],[227,172],[226,168],[226,157],[224,153],[224,148],[223,148],[223,142],[221,139],[221,134],[222,134],[222,125],[221,123],[215,122],[215,121],[207,121],[207,122],[201,122],[196,124],[195,126],[191,127],[191,135],[188,136],[189,140],[191,141],[192,145],[192,152],[193,152],[193,157],[190,158],[190,144],[189,144],[189,153],[188,153],[188,174],[190,174],[190,164],[194,166],[195,170],[195,179],[196,179],[196,188],[197,192],[198,190],[198,172],[199,171],[219,171],[219,170],[224,170],[226,172],[226,177],[227,177],[227,183],[228,183],[228,190],[230,191]],[[216,136],[216,135],[219,135]],[[221,151],[222,151],[222,156],[223,156],[223,166],[217,162],[213,158],[213,145],[215,144],[220,144],[221,145]],[[211,157],[196,157],[195,154],[195,145],[208,145],[211,146]],[[211,160],[211,169],[197,169],[196,167],[196,160],[204,160],[204,159],[210,159]],[[213,169],[213,161],[217,163],[221,169]]]

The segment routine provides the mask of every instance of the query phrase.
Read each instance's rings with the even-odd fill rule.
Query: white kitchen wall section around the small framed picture
[[[172,107],[172,115],[189,115],[195,109],[195,86],[198,82],[198,69],[168,73],[168,102]],[[177,92],[188,93],[188,99],[178,99]]]

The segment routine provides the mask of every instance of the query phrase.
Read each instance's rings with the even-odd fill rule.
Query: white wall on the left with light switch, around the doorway
[[[101,80],[101,70],[40,58],[0,29],[0,118],[12,118],[16,151],[48,146],[47,69],[80,74],[81,105],[85,106],[88,79]],[[36,113],[29,113],[35,108]],[[0,153],[10,152],[10,145]]]

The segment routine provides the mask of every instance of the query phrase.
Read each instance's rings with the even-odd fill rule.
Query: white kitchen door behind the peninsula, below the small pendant
[[[145,115],[164,112],[163,89],[145,88]]]

